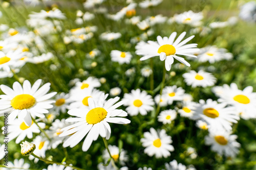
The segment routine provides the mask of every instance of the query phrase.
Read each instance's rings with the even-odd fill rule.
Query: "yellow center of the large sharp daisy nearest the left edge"
[[[30,94],[19,94],[11,100],[11,106],[18,110],[31,108],[34,104],[35,98]]]

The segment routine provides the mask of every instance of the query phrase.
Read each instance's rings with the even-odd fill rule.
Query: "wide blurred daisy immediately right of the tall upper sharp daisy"
[[[198,55],[199,62],[209,62],[215,63],[220,60],[230,60],[233,58],[231,53],[227,53],[225,48],[218,48],[217,46],[206,46],[204,48],[200,48],[200,52]]]

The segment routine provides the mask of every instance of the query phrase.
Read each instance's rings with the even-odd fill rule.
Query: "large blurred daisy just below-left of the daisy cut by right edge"
[[[191,119],[202,119],[210,125],[211,129],[230,131],[232,123],[237,123],[239,120],[235,108],[226,107],[225,103],[219,104],[211,99],[206,102],[200,100],[199,103]]]

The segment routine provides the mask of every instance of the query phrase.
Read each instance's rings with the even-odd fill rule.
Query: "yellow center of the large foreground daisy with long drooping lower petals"
[[[86,121],[88,124],[97,124],[106,118],[107,113],[104,108],[96,107],[87,113]]]

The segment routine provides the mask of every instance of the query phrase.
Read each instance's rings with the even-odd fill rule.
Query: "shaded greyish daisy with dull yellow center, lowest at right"
[[[226,131],[209,131],[205,136],[205,144],[211,145],[211,150],[226,157],[234,157],[238,154],[240,143],[236,141],[237,135],[231,135]]]

